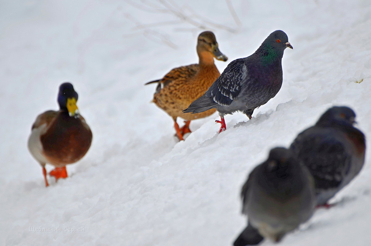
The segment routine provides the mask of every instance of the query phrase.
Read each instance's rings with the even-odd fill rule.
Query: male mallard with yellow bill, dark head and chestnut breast
[[[71,83],[59,87],[59,111],[48,110],[37,116],[28,139],[28,148],[43,168],[45,185],[45,164],[55,166],[49,175],[67,177],[66,165],[79,161],[88,152],[92,132],[76,106],[78,94]]]

